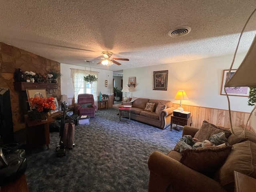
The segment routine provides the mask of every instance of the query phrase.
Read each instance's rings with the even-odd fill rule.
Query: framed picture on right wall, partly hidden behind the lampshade
[[[224,88],[224,85],[226,82],[234,75],[236,72],[236,69],[233,69],[230,71],[230,77],[228,78],[228,71],[229,70],[223,70],[223,76],[222,76],[222,85],[221,85],[221,95],[226,95],[225,89],[228,95],[231,96],[244,96],[248,97],[250,88],[249,87],[226,87]]]

